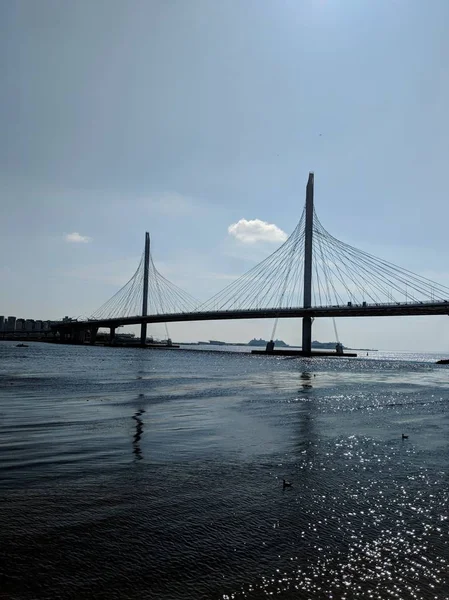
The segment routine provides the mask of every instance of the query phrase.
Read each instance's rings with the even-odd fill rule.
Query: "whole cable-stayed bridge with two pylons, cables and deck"
[[[275,252],[200,303],[168,281],[145,251],[133,277],[86,321],[58,322],[61,338],[95,342],[98,329],[148,323],[302,318],[302,349],[311,354],[312,322],[320,317],[448,315],[449,288],[345,244],[321,225],[309,174],[301,219]]]

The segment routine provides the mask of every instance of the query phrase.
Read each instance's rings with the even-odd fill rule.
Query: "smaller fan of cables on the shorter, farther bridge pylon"
[[[91,318],[109,319],[142,314],[145,253],[136,272],[112,298],[96,310]],[[198,300],[174,285],[156,269],[150,255],[148,265],[148,315],[165,315],[192,312]]]

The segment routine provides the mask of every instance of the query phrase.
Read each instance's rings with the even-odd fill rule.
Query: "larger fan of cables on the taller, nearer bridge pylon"
[[[449,288],[340,242],[314,212],[312,305],[402,304],[449,300]],[[198,307],[200,311],[300,308],[304,294],[305,210],[268,258]]]

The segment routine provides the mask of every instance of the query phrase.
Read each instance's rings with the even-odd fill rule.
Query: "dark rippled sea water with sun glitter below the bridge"
[[[0,597],[449,598],[436,358],[0,342]]]

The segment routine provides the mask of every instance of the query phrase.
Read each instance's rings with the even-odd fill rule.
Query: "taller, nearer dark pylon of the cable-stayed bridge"
[[[313,259],[313,184],[314,175],[309,173],[306,186],[306,219],[304,228],[304,308],[312,307],[312,259]],[[312,353],[312,318],[302,318],[302,353]]]

